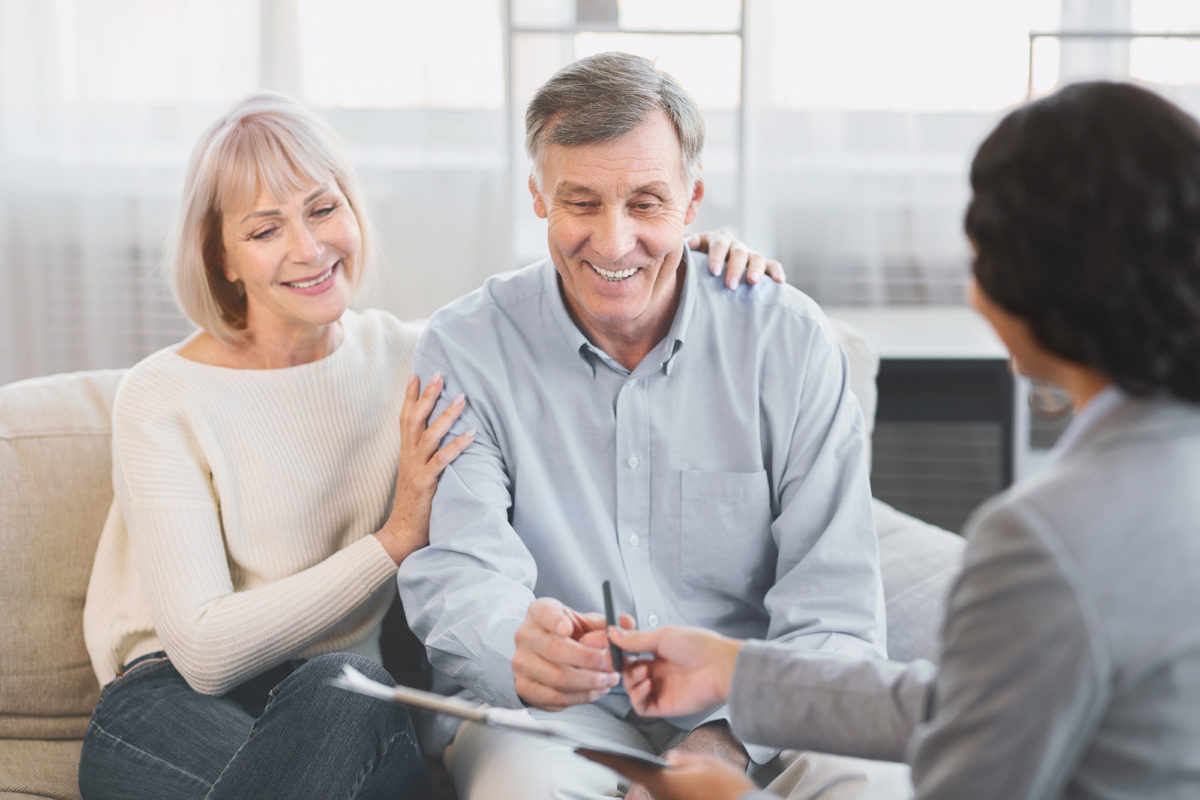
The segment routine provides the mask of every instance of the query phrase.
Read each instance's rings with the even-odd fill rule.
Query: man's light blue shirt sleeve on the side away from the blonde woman
[[[779,560],[764,599],[764,638],[804,650],[884,657],[865,426],[836,336],[823,318],[805,324],[811,329],[799,363],[774,359],[763,378],[767,399],[784,409],[776,425],[791,426],[776,434],[770,453]]]

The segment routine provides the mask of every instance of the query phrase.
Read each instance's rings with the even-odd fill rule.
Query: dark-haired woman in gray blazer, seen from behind
[[[1076,416],[968,524],[941,663],[613,628],[654,654],[630,697],[728,699],[750,741],[905,759],[920,800],[1200,798],[1200,126],[1132,85],[1068,86],[1000,124],[971,186],[972,303]],[[656,798],[757,796],[715,762],[607,763]]]

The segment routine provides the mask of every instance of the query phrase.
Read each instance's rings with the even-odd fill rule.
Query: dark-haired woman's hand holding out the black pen
[[[642,716],[679,716],[724,703],[742,643],[709,631],[667,626],[636,633],[610,628],[622,650],[653,660],[626,660],[625,691]]]

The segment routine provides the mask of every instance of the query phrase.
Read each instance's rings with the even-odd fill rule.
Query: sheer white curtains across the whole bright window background
[[[0,383],[188,331],[163,237],[196,137],[254,89],[316,108],[361,173],[384,258],[359,305],[425,317],[538,254],[521,107],[612,46],[648,48],[704,107],[698,228],[737,228],[824,303],[959,303],[967,166],[1024,97],[1028,32],[1200,29],[1194,0],[721,1],[0,0]],[[700,35],[574,26],[601,6]],[[1038,89],[1158,70],[1196,108],[1182,46],[1049,41]]]

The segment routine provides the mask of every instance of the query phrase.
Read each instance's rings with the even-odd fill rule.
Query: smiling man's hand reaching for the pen
[[[550,597],[535,600],[516,632],[517,694],[546,711],[592,703],[620,680],[612,669],[604,614],[580,614]]]

